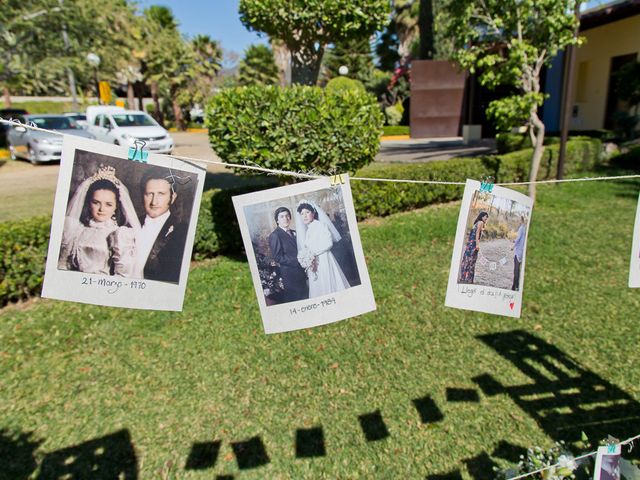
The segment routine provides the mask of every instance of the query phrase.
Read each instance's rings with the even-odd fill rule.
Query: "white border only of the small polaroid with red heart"
[[[527,260],[527,242],[529,241],[529,225],[531,214],[527,218],[526,237],[524,243],[524,255],[520,265],[520,289],[507,290],[499,287],[486,285],[467,285],[458,283],[458,272],[462,260],[463,246],[466,241],[467,217],[473,199],[473,194],[480,190],[480,182],[467,179],[460,214],[458,216],[458,227],[456,239],[453,245],[451,256],[451,269],[449,271],[449,282],[447,285],[447,295],[445,306],[460,308],[463,310],[473,310],[476,312],[504,315],[507,317],[520,318],[522,309],[522,292],[524,290],[524,272]],[[491,194],[498,197],[514,200],[533,211],[533,201],[530,197],[520,192],[508,188],[494,186]]]

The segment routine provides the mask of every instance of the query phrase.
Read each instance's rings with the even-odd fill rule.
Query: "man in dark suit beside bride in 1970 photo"
[[[146,215],[140,219],[138,271],[142,269],[147,280],[179,283],[188,227],[171,213],[178,197],[175,179],[171,172],[154,168],[141,187]]]

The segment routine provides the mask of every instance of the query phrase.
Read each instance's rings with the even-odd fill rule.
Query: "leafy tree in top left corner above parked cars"
[[[113,79],[130,56],[135,36],[133,7],[121,0],[7,0],[0,9],[0,83],[21,93],[66,89],[73,72],[93,86],[88,52],[102,59],[100,73]],[[66,33],[66,39],[63,35]]]

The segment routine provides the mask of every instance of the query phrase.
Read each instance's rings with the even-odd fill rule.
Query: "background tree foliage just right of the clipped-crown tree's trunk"
[[[338,70],[343,65],[349,69],[347,74],[349,78],[355,78],[363,83],[371,78],[373,56],[368,38],[339,41],[327,49],[323,61],[324,76],[329,80],[339,76]]]

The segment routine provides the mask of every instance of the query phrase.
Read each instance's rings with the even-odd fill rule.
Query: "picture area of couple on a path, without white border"
[[[476,190],[466,223],[458,283],[521,290],[531,209]]]

